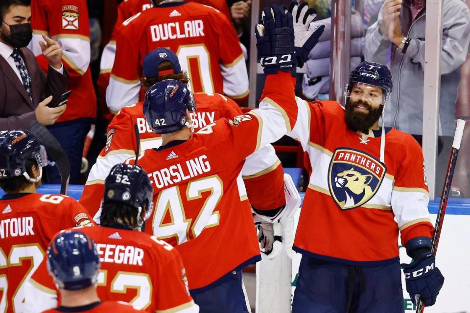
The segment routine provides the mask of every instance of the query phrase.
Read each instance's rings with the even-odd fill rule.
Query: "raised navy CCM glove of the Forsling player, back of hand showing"
[[[295,76],[294,28],[292,14],[279,5],[263,9],[255,29],[258,57],[265,74],[290,71]]]

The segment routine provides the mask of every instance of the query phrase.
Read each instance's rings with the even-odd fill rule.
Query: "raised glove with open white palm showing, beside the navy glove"
[[[318,44],[318,40],[325,30],[325,25],[318,25],[315,28],[309,27],[310,23],[317,16],[317,12],[314,8],[309,8],[307,2],[299,6],[297,1],[293,1],[290,4],[289,12],[294,20],[297,66],[303,67],[304,63],[308,60],[308,54]]]

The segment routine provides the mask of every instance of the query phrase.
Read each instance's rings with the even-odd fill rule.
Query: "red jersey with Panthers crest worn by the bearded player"
[[[301,142],[312,172],[294,250],[371,265],[397,261],[399,231],[403,245],[431,237],[423,152],[410,134],[386,128],[383,164],[380,131],[349,130],[344,109],[334,101],[297,104],[287,135]]]

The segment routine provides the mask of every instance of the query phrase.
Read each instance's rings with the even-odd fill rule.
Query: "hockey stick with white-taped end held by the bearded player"
[[[462,141],[462,134],[464,132],[465,121],[462,119],[457,120],[457,128],[455,130],[454,142],[452,143],[452,150],[450,150],[449,164],[447,165],[446,179],[444,180],[444,187],[442,189],[441,201],[439,203],[439,211],[437,212],[436,224],[434,225],[434,235],[432,236],[431,252],[436,256],[437,246],[439,245],[439,238],[441,238],[442,224],[444,222],[444,215],[446,214],[447,201],[449,200],[450,185],[454,176],[455,163],[457,163],[457,156],[459,155],[460,142]],[[418,300],[416,313],[423,313],[424,303],[421,299]]]

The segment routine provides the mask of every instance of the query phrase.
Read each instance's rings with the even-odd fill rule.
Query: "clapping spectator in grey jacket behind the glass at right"
[[[385,125],[423,134],[426,0],[386,0],[367,31],[366,60],[390,64],[395,86]],[[443,2],[439,134],[453,136],[460,67],[469,51],[470,10],[462,0]]]

